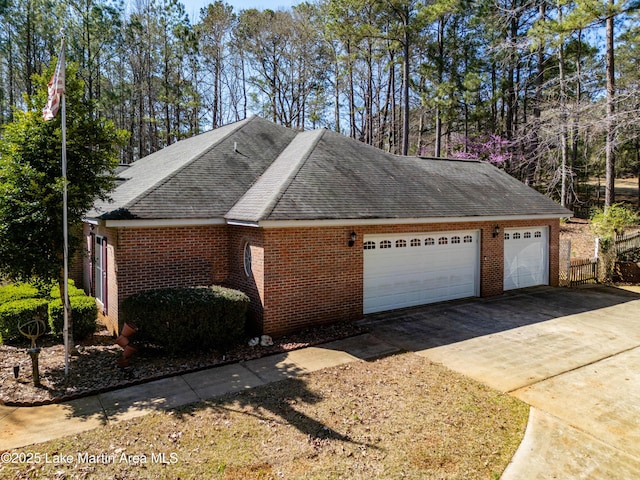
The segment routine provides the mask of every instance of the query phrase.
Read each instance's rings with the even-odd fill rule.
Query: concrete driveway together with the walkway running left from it
[[[0,406],[0,451],[397,351],[532,406],[512,479],[640,478],[640,291],[540,287],[369,315],[369,334],[60,405]]]

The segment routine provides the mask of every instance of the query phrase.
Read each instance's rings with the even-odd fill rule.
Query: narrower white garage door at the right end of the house
[[[504,289],[549,284],[547,227],[507,228],[504,231]]]

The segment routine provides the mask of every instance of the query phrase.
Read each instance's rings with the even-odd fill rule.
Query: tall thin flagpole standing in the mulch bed
[[[61,54],[64,55],[65,48],[65,35],[64,28],[60,31],[62,34],[62,47]],[[65,69],[64,62],[62,64],[62,69]],[[63,328],[63,336],[64,336],[64,374],[65,376],[69,375],[69,226],[67,221],[67,203],[68,203],[68,195],[67,195],[67,104],[66,104],[66,95],[65,92],[62,92],[61,97],[61,105],[60,105],[60,116],[62,123],[62,235],[64,236],[63,242],[63,264],[64,264],[64,328]]]

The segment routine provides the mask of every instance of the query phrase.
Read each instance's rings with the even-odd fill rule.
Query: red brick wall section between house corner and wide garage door
[[[362,244],[349,248],[351,230],[265,230],[265,333],[362,316]]]

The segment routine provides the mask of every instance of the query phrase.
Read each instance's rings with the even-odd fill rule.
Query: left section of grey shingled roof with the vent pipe
[[[120,172],[110,202],[88,218],[222,218],[275,161],[296,132],[252,117],[174,143]]]

